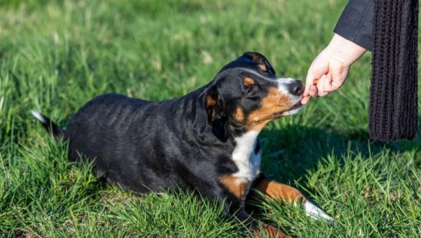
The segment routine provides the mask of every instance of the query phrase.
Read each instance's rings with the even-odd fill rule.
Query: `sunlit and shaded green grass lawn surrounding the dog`
[[[0,1],[0,237],[252,236],[212,201],[138,197],[67,163],[67,146],[29,110],[65,126],[101,93],[184,95],[245,51],[266,55],[281,77],[305,79],[346,3]],[[260,136],[262,171],[335,222],[274,201],[259,204],[262,220],[294,237],[420,237],[421,139],[368,139],[369,79],[367,53],[340,91]]]

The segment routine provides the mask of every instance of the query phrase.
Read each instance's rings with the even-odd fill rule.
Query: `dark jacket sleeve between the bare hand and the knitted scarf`
[[[371,51],[373,48],[373,15],[374,1],[349,0],[333,31]]]

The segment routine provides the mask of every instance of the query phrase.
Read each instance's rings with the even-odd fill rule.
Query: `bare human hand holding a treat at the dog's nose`
[[[338,90],[347,79],[349,67],[366,51],[354,42],[334,34],[328,46],[309,67],[301,103],[305,105],[310,97],[326,96]],[[317,83],[314,84],[314,81]]]

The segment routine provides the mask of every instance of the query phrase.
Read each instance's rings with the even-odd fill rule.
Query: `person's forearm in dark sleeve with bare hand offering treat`
[[[304,97],[306,104],[310,96],[324,96],[338,90],[349,71],[349,67],[373,46],[372,0],[350,0],[334,29],[335,34],[326,48],[316,56],[306,77]],[[318,82],[313,85],[314,79]]]

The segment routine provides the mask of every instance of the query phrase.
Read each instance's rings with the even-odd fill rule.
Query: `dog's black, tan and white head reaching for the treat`
[[[244,53],[204,88],[194,129],[199,135],[208,126],[214,133],[260,131],[269,121],[300,111],[303,91],[301,81],[276,77],[265,56]]]

